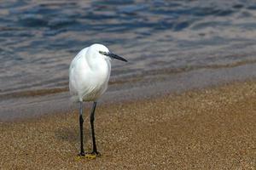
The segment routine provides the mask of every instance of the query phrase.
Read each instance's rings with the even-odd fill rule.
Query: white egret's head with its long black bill
[[[96,53],[101,54],[102,57],[108,57],[108,58],[110,58],[110,59],[119,59],[119,60],[122,60],[122,61],[127,62],[126,59],[120,57],[119,55],[111,53],[111,52],[108,50],[108,48],[107,48],[106,46],[102,45],[102,44],[97,44],[97,43],[96,43],[96,44],[91,45],[90,48],[95,49],[95,50],[96,50]]]

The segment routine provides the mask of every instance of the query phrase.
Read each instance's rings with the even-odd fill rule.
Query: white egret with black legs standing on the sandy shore
[[[93,102],[90,110],[90,128],[92,136],[92,156],[101,156],[96,148],[94,129],[95,111],[98,99],[108,88],[108,81],[111,72],[111,60],[119,59],[127,62],[126,59],[113,54],[102,44],[95,43],[90,47],[79,51],[69,67],[69,92],[71,99],[79,103],[79,130],[80,130],[80,153],[85,156],[83,142],[83,102]]]

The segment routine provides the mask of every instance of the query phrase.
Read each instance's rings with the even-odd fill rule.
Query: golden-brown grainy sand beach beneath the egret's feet
[[[255,81],[100,105],[96,142],[102,156],[94,160],[76,159],[78,115],[0,123],[1,169],[256,168]]]

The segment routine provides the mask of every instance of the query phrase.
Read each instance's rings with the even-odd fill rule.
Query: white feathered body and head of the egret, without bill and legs
[[[111,72],[109,50],[102,44],[82,49],[69,67],[69,90],[74,101],[96,101],[108,88]]]

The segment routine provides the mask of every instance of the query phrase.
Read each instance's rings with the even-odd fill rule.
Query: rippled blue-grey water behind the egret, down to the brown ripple
[[[94,42],[129,60],[113,61],[110,90],[126,82],[255,64],[255,17],[256,3],[239,0],[4,0],[0,107],[67,92],[70,61]],[[33,99],[22,103],[24,97]]]

